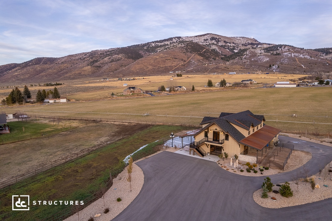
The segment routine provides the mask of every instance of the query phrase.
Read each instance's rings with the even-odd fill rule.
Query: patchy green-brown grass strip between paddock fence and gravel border
[[[186,129],[190,128],[152,126],[73,162],[0,189],[0,220],[43,219],[64,210],[66,206],[31,205],[30,211],[12,211],[11,195],[30,195],[31,202],[33,200],[83,200],[94,194],[107,182],[110,169],[117,167],[127,155],[145,144],[162,140],[163,137],[169,138],[170,132]],[[158,144],[162,143],[161,141]]]

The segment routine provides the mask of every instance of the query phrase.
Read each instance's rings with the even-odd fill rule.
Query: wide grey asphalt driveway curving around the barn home
[[[316,174],[332,160],[332,148],[280,136],[283,143],[312,153],[305,164]],[[265,177],[229,173],[215,162],[161,152],[137,163],[144,173],[138,196],[113,220],[332,220],[332,198],[269,209],[253,200]],[[303,171],[302,167],[297,170]],[[291,181],[296,171],[270,176],[274,184]],[[134,181],[133,181],[134,182]],[[314,193],[313,193],[314,194]]]

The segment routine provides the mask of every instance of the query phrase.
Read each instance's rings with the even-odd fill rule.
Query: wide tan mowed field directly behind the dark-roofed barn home
[[[204,116],[217,117],[220,112],[250,110],[255,114],[264,114],[267,124],[280,129],[331,131],[332,124],[320,124],[332,123],[331,97],[331,87],[245,88],[67,104],[13,106],[3,110],[7,113],[22,111],[37,115],[190,124],[199,124]],[[150,115],[143,117],[144,113]],[[292,117],[292,114],[297,117]]]

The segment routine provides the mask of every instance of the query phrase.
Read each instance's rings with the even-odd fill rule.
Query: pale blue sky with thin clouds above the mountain
[[[0,65],[206,33],[332,47],[332,1],[0,0]]]

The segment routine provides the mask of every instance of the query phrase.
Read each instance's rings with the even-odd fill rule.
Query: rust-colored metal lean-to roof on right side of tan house
[[[280,131],[280,129],[264,125],[261,129],[242,139],[240,143],[256,150],[262,150]]]

